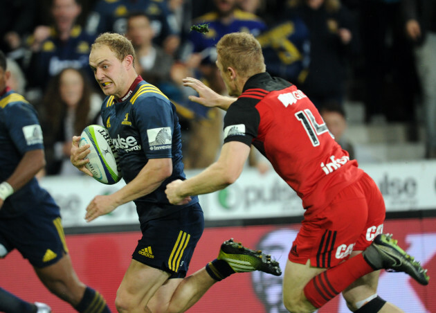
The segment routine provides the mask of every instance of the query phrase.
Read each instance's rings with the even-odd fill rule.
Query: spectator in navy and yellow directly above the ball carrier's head
[[[131,12],[144,12],[154,29],[154,43],[173,54],[180,44],[179,30],[172,28],[171,12],[161,0],[99,0],[89,13],[87,31],[93,35],[127,32],[127,17]]]

